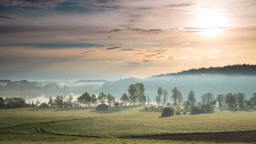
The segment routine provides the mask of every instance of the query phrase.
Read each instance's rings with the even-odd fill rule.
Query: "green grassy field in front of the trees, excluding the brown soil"
[[[160,112],[141,112],[142,108],[119,106],[106,111],[95,111],[95,108],[2,109],[0,143],[197,144],[205,142],[132,137],[256,130],[256,110],[215,108],[210,114],[161,118]]]

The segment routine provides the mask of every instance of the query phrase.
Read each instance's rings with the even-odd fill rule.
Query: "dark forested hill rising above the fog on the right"
[[[169,75],[183,75],[183,74],[241,74],[241,75],[256,75],[256,65],[250,64],[235,64],[223,67],[209,67],[209,68],[193,68],[189,70],[183,70],[177,73],[160,74],[157,76],[169,76]],[[153,76],[153,77],[157,77]]]

